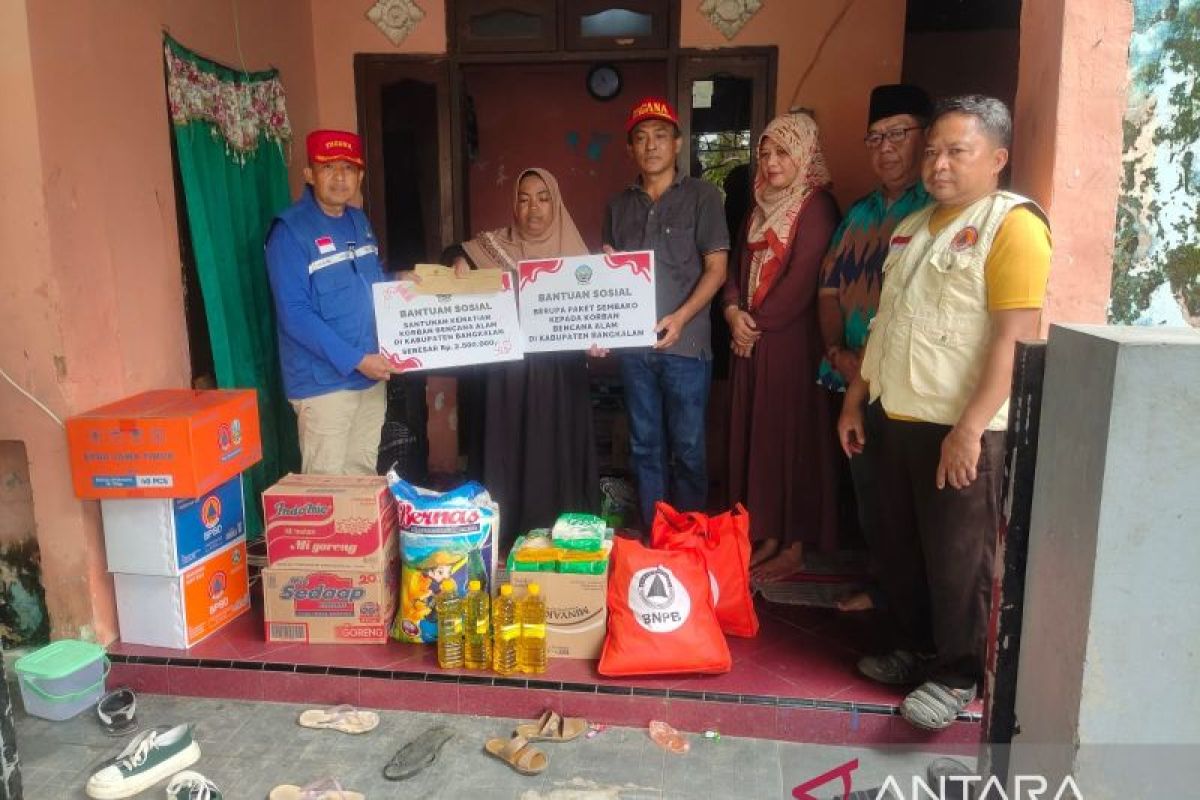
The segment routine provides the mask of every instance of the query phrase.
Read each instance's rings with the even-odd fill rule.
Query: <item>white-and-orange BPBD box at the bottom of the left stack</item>
[[[181,575],[113,575],[121,640],[182,650],[250,608],[246,540],[239,539]]]

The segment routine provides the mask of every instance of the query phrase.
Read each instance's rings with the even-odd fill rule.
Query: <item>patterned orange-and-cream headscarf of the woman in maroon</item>
[[[776,116],[758,137],[758,146],[767,137],[787,150],[799,169],[790,186],[775,188],[767,182],[767,173],[758,164],[754,181],[754,215],[746,234],[746,246],[752,253],[750,279],[746,287],[749,308],[762,305],[770,285],[779,277],[792,249],[796,219],[804,204],[817,190],[830,185],[829,169],[817,140],[817,124],[808,114]]]

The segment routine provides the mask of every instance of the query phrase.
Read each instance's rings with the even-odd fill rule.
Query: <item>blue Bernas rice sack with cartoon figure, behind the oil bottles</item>
[[[454,581],[460,594],[470,581],[491,590],[499,507],[475,482],[445,493],[418,488],[395,473],[388,482],[400,511],[400,608],[392,636],[436,642],[434,608],[444,581]]]

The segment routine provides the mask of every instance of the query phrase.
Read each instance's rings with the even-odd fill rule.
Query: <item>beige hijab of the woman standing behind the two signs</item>
[[[526,237],[516,225],[517,192],[521,179],[528,174],[538,175],[550,188],[551,204],[553,205],[554,218],[546,227],[546,233],[540,237]],[[563,205],[563,194],[558,191],[558,181],[545,169],[532,167],[522,169],[512,186],[512,216],[514,224],[508,228],[497,228],[476,235],[470,241],[466,241],[462,248],[467,251],[470,260],[479,269],[496,269],[516,271],[517,261],[529,258],[557,258],[560,255],[587,255],[588,246],[583,243],[575,221]]]

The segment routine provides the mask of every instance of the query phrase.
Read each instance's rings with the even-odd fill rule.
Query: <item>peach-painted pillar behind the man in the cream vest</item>
[[[1121,179],[1128,0],[1038,0],[1021,11],[1013,187],[1050,215],[1050,323],[1104,323]]]

